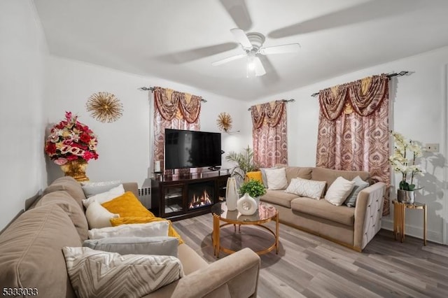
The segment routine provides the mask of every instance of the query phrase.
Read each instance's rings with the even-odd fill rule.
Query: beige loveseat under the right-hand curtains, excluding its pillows
[[[328,187],[339,176],[352,180],[360,176],[370,180],[366,171],[336,171],[317,167],[286,166],[288,185],[292,178],[325,181]],[[322,236],[336,243],[361,251],[381,229],[384,192],[386,185],[373,183],[358,194],[356,207],[335,206],[325,199],[299,197],[285,190],[267,190],[260,200],[273,204],[279,210],[280,222],[306,232]],[[322,197],[325,195],[323,193]]]

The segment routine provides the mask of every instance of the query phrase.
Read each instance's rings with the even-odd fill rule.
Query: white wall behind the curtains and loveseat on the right
[[[422,143],[440,143],[439,153],[426,153],[423,167],[428,173],[419,180],[423,186],[418,201],[428,204],[428,239],[443,242],[444,222],[447,222],[446,179],[447,127],[445,65],[448,62],[448,48],[440,48],[414,57],[400,59],[353,73],[325,80],[323,82],[266,97],[253,102],[261,103],[274,99],[295,99],[288,104],[288,148],[289,164],[314,166],[318,127],[318,99],[311,94],[326,87],[351,82],[366,76],[395,71],[411,71],[410,76],[391,80],[389,98],[393,107],[391,129]],[[250,122],[247,122],[250,125]],[[247,124],[246,124],[247,125]],[[400,176],[396,176],[400,179]],[[398,181],[398,180],[397,180]],[[395,178],[392,180],[395,185]],[[395,189],[391,191],[395,198]],[[445,206],[445,207],[443,207]],[[407,210],[406,233],[421,237],[423,213]],[[383,227],[393,229],[393,209],[384,218]],[[447,236],[445,236],[447,237]],[[448,237],[447,237],[448,238]],[[445,243],[446,238],[445,238]]]

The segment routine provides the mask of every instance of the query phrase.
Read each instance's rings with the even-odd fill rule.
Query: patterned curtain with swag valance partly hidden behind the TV
[[[154,161],[164,171],[165,128],[200,130],[202,97],[154,87]],[[153,161],[153,162],[154,162]]]

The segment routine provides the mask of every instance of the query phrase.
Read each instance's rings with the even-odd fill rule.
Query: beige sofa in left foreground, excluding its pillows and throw
[[[137,195],[137,183],[123,186]],[[81,199],[85,195],[76,180],[59,178],[0,235],[0,289],[31,288],[38,297],[76,297],[62,247],[82,246],[87,239]],[[179,259],[186,275],[145,297],[256,297],[260,257],[248,248],[207,264],[183,243]]]

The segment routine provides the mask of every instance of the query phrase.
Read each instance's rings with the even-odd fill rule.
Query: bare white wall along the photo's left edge
[[[45,37],[32,1],[0,2],[0,230],[46,184]]]

